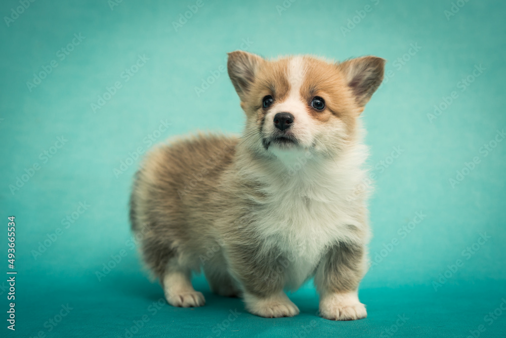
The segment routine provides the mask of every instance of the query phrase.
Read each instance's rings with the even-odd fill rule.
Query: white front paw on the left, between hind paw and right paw
[[[293,317],[299,314],[299,308],[293,304],[284,292],[261,299],[245,295],[246,309],[254,315],[266,318]]]

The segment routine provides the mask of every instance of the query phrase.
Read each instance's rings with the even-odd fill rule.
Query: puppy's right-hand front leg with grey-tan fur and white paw
[[[338,243],[327,252],[315,275],[323,318],[355,320],[367,317],[365,306],[358,300],[358,284],[365,270],[361,244]]]

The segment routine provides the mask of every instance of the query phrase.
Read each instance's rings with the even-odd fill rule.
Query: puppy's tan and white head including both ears
[[[322,155],[356,134],[356,121],[383,80],[385,60],[366,56],[329,63],[309,56],[274,61],[228,54],[228,73],[246,113],[247,148],[279,155]]]

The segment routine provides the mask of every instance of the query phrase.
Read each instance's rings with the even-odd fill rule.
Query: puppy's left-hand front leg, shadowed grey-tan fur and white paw
[[[236,247],[229,250],[231,273],[244,290],[246,310],[261,317],[292,317],[299,314],[283,291],[284,268],[278,255],[259,257],[254,247]]]

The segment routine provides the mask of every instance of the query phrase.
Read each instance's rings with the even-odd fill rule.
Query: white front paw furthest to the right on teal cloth
[[[367,317],[367,311],[356,292],[333,293],[322,297],[320,316],[330,320],[357,320]]]

